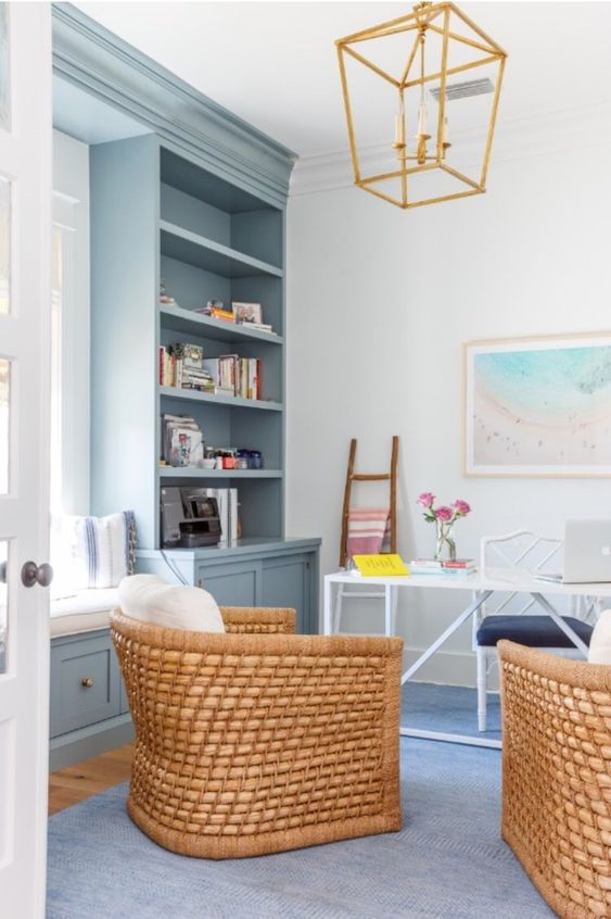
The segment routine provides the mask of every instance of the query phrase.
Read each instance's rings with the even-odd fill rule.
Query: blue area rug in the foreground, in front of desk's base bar
[[[548,919],[499,838],[498,751],[402,740],[404,826],[308,849],[205,861],[128,818],[127,785],[49,828],[47,919]]]

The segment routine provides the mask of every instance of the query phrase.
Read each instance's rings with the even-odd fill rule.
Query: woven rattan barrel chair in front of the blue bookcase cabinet
[[[225,634],[112,616],[132,820],[206,858],[398,830],[402,640],[295,635],[288,609],[221,613]]]

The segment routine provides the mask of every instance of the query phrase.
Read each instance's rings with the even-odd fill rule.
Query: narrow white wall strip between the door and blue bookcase
[[[62,511],[89,513],[89,147],[53,131],[53,225],[62,231]],[[109,295],[112,295],[112,272]]]

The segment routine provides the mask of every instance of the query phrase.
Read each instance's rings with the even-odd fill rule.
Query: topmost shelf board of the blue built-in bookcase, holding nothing
[[[282,269],[275,265],[260,262],[168,221],[160,221],[160,238],[162,255],[204,268],[224,278],[283,277]]]

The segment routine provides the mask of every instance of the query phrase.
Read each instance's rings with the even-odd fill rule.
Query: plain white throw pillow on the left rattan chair
[[[156,575],[124,578],[118,586],[118,602],[126,616],[164,629],[225,631],[220,609],[207,591],[166,584]]]

